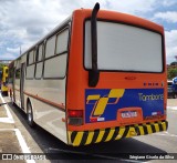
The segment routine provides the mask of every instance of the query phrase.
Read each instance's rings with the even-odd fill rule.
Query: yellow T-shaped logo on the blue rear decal
[[[105,121],[105,118],[101,118],[107,105],[117,104],[119,98],[124,95],[124,89],[112,89],[108,94],[92,94],[87,95],[86,104],[92,104],[93,109],[90,114],[90,122],[101,122]]]

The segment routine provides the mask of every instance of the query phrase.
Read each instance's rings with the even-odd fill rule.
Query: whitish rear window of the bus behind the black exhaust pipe
[[[163,72],[159,33],[115,22],[97,21],[97,67],[108,71]],[[91,21],[85,22],[84,65],[92,67]]]

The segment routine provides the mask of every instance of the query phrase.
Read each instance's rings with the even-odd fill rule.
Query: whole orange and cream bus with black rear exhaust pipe
[[[66,144],[167,130],[164,28],[148,20],[98,3],[75,10],[11,71],[12,102],[29,124]]]

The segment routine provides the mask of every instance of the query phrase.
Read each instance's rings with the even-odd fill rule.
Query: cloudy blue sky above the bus
[[[167,63],[177,55],[177,0],[0,0],[0,60],[13,60],[80,8],[137,16],[165,29]]]

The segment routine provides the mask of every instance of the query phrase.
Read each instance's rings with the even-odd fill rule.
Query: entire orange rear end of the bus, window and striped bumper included
[[[73,13],[66,85],[69,144],[166,131],[163,27],[118,12],[96,12]]]

